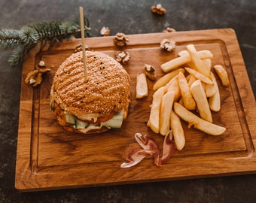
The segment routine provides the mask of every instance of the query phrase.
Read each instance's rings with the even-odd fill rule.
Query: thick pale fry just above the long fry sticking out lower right
[[[206,93],[203,89],[201,80],[196,80],[190,86],[190,92],[197,103],[197,110],[199,111],[200,117],[203,120],[207,120],[208,122],[212,123],[212,113],[209,108],[208,100],[206,98]]]

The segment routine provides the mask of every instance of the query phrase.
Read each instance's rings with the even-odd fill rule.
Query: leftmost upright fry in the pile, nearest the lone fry
[[[162,86],[159,89],[157,89],[157,91],[154,92],[154,95],[153,95],[151,113],[150,113],[147,125],[155,133],[159,133],[160,106],[161,106],[162,97],[165,92],[166,92],[166,89],[164,86]]]

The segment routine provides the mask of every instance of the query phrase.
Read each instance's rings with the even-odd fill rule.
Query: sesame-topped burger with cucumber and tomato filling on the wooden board
[[[111,56],[87,51],[69,56],[57,69],[50,89],[50,109],[69,132],[93,134],[118,129],[130,104],[130,76]]]

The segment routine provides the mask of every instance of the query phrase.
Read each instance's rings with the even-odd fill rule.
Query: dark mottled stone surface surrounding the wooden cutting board
[[[165,16],[151,14],[161,3]],[[1,0],[0,29],[19,29],[41,20],[79,17],[83,6],[92,35],[102,26],[116,32],[138,34],[233,28],[256,95],[256,1],[254,0]],[[102,186],[46,192],[18,192],[14,188],[21,67],[10,68],[9,51],[0,52],[0,202],[254,202],[256,175],[175,180],[125,186]]]

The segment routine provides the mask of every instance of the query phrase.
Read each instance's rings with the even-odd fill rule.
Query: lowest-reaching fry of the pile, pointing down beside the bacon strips
[[[176,148],[177,150],[182,150],[185,145],[184,130],[180,118],[177,116],[177,114],[175,114],[174,111],[171,112],[170,126]]]

